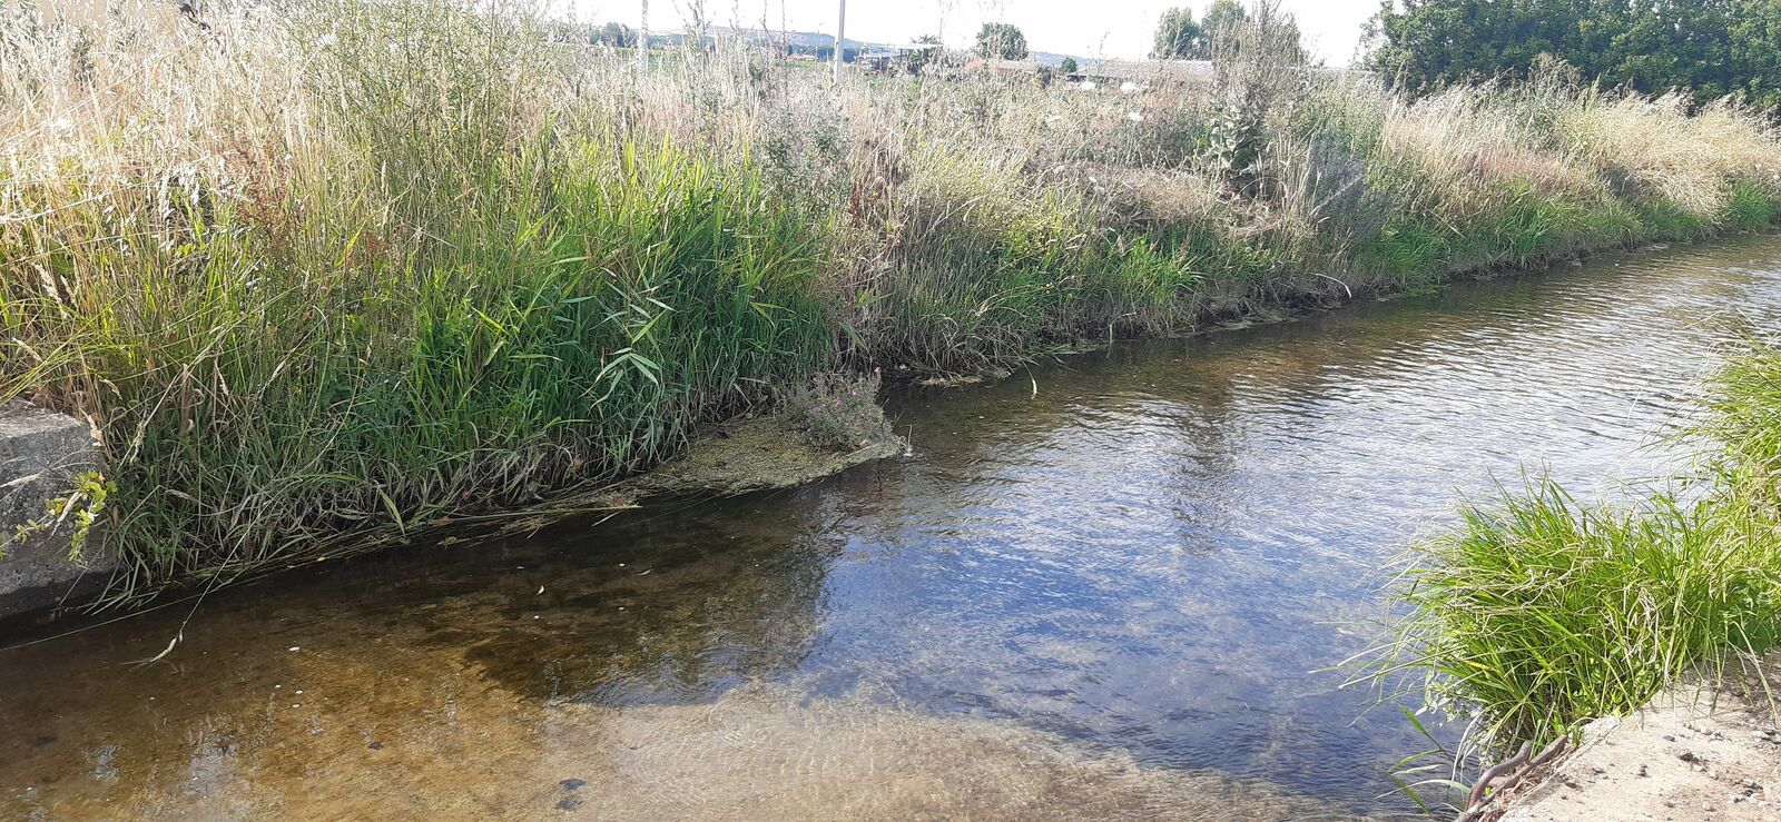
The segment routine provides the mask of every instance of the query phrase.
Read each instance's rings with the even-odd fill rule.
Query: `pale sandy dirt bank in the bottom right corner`
[[[1781,655],[1703,676],[1583,744],[1480,818],[1781,820]]]

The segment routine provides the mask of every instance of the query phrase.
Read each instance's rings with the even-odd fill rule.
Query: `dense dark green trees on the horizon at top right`
[[[1414,94],[1549,55],[1606,87],[1781,103],[1777,0],[1386,0],[1368,39],[1370,68]]]

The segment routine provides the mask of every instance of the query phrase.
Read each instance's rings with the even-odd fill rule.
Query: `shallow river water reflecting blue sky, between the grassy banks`
[[[1330,669],[1391,559],[1525,468],[1676,470],[1777,320],[1747,238],[903,397],[910,457],[809,488],[0,651],[0,818],[1396,815],[1427,740]]]

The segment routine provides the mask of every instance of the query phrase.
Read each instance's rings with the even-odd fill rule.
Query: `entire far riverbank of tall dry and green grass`
[[[1414,105],[1247,30],[1208,87],[636,73],[436,2],[0,12],[0,395],[93,420],[121,589],[533,505],[810,374],[1756,230],[1761,117]]]

